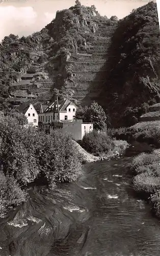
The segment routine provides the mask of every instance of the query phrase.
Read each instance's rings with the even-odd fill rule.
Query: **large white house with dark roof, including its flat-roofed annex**
[[[83,120],[75,119],[76,110],[77,106],[72,101],[63,99],[59,101],[58,118],[57,102],[52,102],[48,106],[41,105],[38,114],[39,127],[50,131],[60,129],[62,134],[71,135],[74,140],[82,140],[85,133],[93,131],[93,123],[83,123]]]

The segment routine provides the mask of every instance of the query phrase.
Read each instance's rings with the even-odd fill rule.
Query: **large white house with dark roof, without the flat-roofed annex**
[[[59,118],[58,106],[60,114]],[[51,120],[73,120],[75,117],[76,109],[77,106],[68,99],[63,99],[59,101],[59,104],[57,104],[57,102],[52,102],[48,106],[41,105],[41,110],[38,114],[39,126],[41,127],[41,129],[47,130],[49,129],[49,122]]]

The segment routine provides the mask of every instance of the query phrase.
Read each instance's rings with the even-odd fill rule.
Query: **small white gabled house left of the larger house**
[[[24,114],[26,116],[29,124],[38,126],[38,113],[35,110],[33,104],[23,103],[23,104],[19,105],[16,109],[19,110],[19,112],[21,112],[22,114]]]

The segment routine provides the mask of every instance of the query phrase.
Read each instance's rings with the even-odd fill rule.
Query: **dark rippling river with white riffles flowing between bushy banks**
[[[140,149],[142,150],[142,149]],[[0,223],[1,256],[159,256],[160,223],[135,197],[132,157],[86,164],[78,181],[30,188],[28,202]]]

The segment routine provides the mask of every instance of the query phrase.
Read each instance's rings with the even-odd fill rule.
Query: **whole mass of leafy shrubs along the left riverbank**
[[[26,129],[19,116],[12,113],[0,116],[0,169],[3,211],[5,205],[24,201],[24,187],[41,175],[48,185],[75,180],[81,171],[81,160],[69,136]]]

